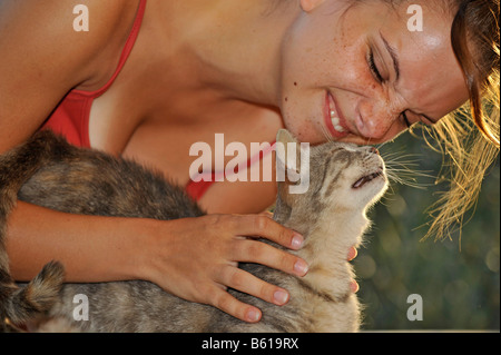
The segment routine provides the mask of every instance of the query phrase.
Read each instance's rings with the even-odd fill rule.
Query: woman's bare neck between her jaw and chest
[[[301,8],[296,1],[277,6],[271,0],[158,1],[156,22],[168,56],[195,78],[191,86],[278,106],[281,48]]]

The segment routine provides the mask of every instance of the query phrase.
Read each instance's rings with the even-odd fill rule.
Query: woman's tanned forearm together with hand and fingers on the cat
[[[257,322],[259,309],[236,299],[226,287],[277,305],[286,303],[288,294],[239,269],[238,262],[297,276],[307,273],[307,265],[256,236],[293,249],[303,240],[259,215],[155,220],[71,215],[18,203],[9,216],[6,245],[17,280],[32,279],[45,264],[59,260],[66,267],[66,282],[145,279],[184,299]]]

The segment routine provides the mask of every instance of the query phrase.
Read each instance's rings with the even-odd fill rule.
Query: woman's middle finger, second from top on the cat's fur
[[[233,255],[238,262],[266,265],[297,276],[308,272],[308,265],[302,258],[258,240],[238,240]]]

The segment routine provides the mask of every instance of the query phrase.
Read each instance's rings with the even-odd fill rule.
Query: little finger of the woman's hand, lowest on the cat
[[[224,313],[234,316],[244,322],[256,323],[259,322],[262,313],[258,308],[239,302],[226,290],[214,287],[214,298],[210,303],[214,307],[219,308]]]

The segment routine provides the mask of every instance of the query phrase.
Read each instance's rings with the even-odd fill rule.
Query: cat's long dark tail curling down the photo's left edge
[[[47,310],[61,287],[63,268],[58,263],[49,263],[27,287],[19,288],[10,275],[6,236],[8,216],[22,185],[49,159],[70,156],[69,147],[53,134],[41,131],[0,155],[0,329],[7,318],[23,323],[36,313]]]

